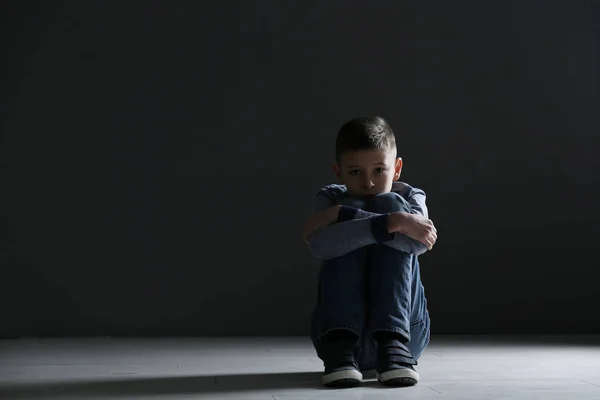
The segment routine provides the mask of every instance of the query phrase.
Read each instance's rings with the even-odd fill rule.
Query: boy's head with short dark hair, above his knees
[[[335,156],[333,170],[351,196],[388,193],[400,178],[402,159],[396,157],[396,137],[381,117],[346,122],[338,132]]]

